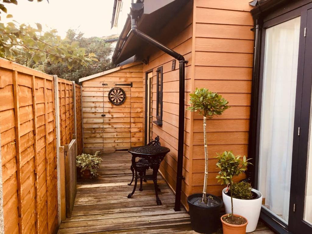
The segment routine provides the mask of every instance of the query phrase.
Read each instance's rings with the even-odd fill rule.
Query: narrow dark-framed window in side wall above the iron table
[[[158,126],[163,125],[163,67],[158,67],[156,70],[156,121],[155,124]]]

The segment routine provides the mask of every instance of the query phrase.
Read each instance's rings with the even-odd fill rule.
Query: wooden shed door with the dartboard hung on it
[[[129,82],[103,82],[103,114],[105,115],[103,117],[104,152],[130,148],[131,87],[127,86],[129,84]],[[125,100],[123,101],[124,95]],[[119,105],[114,105],[112,102]]]

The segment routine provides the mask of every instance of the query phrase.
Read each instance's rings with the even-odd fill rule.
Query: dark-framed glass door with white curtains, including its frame
[[[312,3],[262,31],[257,188],[282,229],[312,233]]]

